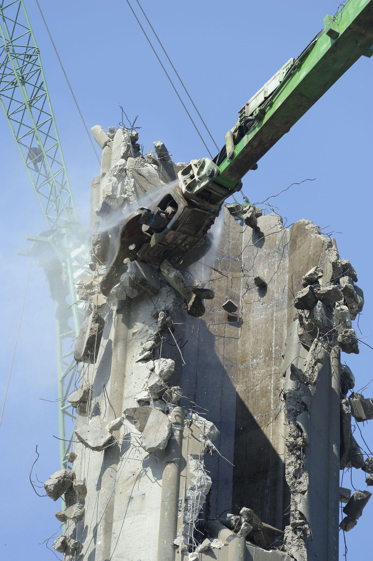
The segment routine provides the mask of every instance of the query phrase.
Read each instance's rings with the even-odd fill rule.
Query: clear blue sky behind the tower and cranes
[[[99,174],[98,162],[36,2],[25,3],[42,56],[77,211],[81,222],[88,224],[90,182]],[[134,0],[132,4],[135,7]],[[323,26],[326,13],[334,15],[337,4],[329,0],[143,0],[142,6],[211,133],[222,145],[242,105],[289,58],[300,54]],[[176,162],[207,155],[124,0],[40,0],[40,5],[89,127],[117,126],[120,103],[130,118],[139,114],[139,141],[145,151],[153,148],[154,140],[162,140]],[[290,183],[316,178],[293,186],[274,199],[274,204],[288,224],[307,218],[324,232],[340,232],[333,234],[340,255],[351,260],[365,293],[359,320],[364,337],[373,333],[372,65],[373,58],[358,60],[260,160],[259,169],[243,180],[243,191],[250,200],[260,201]],[[6,119],[0,115],[0,120],[2,401],[29,266],[27,258],[16,252],[28,249],[26,234],[37,234],[46,222]],[[202,126],[200,130],[207,142]],[[209,146],[215,153],[211,141]],[[354,327],[358,331],[356,322]],[[372,339],[363,341],[373,346]],[[342,360],[356,377],[356,390],[369,384],[372,377],[373,351],[364,344],[360,349],[360,355],[342,353]],[[364,393],[371,397],[371,388]],[[57,530],[54,512],[58,503],[39,499],[28,482],[36,444],[39,479],[44,481],[58,469],[58,441],[53,438],[58,434],[57,407],[39,398],[56,398],[54,306],[43,270],[33,265],[0,432],[0,557],[8,561],[53,558],[53,553],[38,544]],[[362,430],[367,444],[373,446],[371,425]],[[344,478],[344,485],[351,487],[349,473]],[[362,472],[353,471],[357,489],[366,489],[364,480]],[[346,534],[348,561],[370,558],[372,513],[373,500],[357,526]],[[344,559],[343,553],[344,546],[340,559]]]

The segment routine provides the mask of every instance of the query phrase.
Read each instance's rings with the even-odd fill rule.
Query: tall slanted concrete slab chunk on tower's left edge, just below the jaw
[[[97,310],[83,321],[74,349],[77,362],[96,362],[104,327],[105,320]]]

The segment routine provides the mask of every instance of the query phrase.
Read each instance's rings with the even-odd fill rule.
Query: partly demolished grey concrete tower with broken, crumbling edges
[[[241,227],[226,210],[197,263],[123,263],[104,297],[119,227],[184,164],[162,142],[142,156],[137,131],[94,134],[92,275],[79,287],[89,320],[70,399],[79,483],[65,493],[84,513],[67,518],[58,551],[69,558],[78,541],[89,561],[337,560],[339,348],[358,351],[356,273],[307,220],[285,229],[255,209],[256,226]]]

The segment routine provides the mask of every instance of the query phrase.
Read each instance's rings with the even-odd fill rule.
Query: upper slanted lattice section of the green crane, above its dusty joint
[[[0,2],[0,103],[50,228],[77,222],[39,49],[24,2]]]

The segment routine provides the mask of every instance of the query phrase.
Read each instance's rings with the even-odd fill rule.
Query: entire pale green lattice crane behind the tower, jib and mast
[[[66,401],[76,376],[71,343],[84,319],[82,307],[70,305],[78,300],[76,284],[87,274],[89,250],[23,0],[0,1],[0,33],[0,103],[48,224],[47,231],[28,239],[34,241],[31,253],[44,267],[56,307],[59,442],[61,467],[66,467],[72,439],[66,435],[66,420],[75,419]]]

